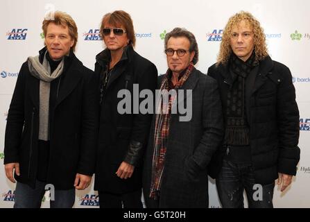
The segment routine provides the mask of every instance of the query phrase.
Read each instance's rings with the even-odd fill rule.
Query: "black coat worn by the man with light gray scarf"
[[[42,62],[46,48],[40,51]],[[73,189],[76,173],[92,176],[98,133],[98,106],[94,72],[71,51],[64,71],[51,82],[57,91],[49,110],[50,153],[46,182],[55,189]],[[56,89],[56,90],[55,90]],[[35,187],[38,162],[40,80],[27,62],[21,66],[8,111],[4,164],[19,162],[15,179]]]

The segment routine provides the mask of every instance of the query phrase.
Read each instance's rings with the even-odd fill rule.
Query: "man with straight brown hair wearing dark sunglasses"
[[[139,92],[155,92],[157,69],[134,51],[135,31],[127,12],[107,13],[100,33],[106,49],[96,56],[95,64],[101,95],[95,189],[100,207],[142,207],[140,162],[151,114],[121,114],[117,95],[127,89],[133,101],[134,85]]]

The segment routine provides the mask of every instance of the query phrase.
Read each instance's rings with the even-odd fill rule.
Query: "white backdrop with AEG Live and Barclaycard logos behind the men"
[[[251,12],[264,27],[273,60],[291,69],[300,108],[301,159],[293,185],[281,194],[275,188],[275,207],[310,207],[310,1],[309,0],[1,0],[0,1],[0,164],[3,164],[4,132],[10,99],[21,64],[42,48],[42,20],[49,10],[69,13],[78,26],[76,56],[94,69],[95,55],[103,49],[98,28],[103,15],[126,10],[132,16],[137,36],[136,51],[155,63],[160,74],[166,72],[162,37],[174,27],[187,28],[196,35],[200,60],[196,67],[207,72],[216,62],[221,32],[227,20],[240,10]],[[210,34],[217,35],[210,35]],[[94,185],[94,183],[92,183]],[[209,182],[210,207],[220,207],[214,182]],[[15,185],[0,167],[0,207],[12,207]],[[47,195],[46,195],[47,196]],[[42,207],[48,207],[44,200]],[[76,193],[75,207],[98,206],[90,187]]]

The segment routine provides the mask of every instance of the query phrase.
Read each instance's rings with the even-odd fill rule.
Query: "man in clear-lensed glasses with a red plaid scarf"
[[[207,165],[223,136],[218,87],[194,67],[198,44],[192,33],[174,28],[164,46],[169,69],[159,77],[158,89],[176,96],[156,101],[144,161],[146,206],[208,207]],[[180,103],[191,107],[185,121],[180,110],[173,112]]]

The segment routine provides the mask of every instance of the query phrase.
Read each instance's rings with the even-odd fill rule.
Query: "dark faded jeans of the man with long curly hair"
[[[250,208],[273,208],[274,187],[274,182],[270,185],[256,185],[250,164],[236,164],[225,158],[216,178],[218,196],[224,208],[243,208],[244,190]]]

